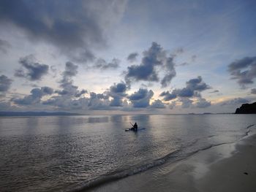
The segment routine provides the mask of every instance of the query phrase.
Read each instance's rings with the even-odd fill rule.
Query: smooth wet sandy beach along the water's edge
[[[255,191],[256,135],[91,191]]]

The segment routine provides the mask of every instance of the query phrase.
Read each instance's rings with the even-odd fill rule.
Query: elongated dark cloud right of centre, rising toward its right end
[[[203,82],[202,77],[198,76],[186,82],[186,87],[162,92],[159,96],[163,96],[165,101],[176,99],[177,97],[200,97],[200,92],[211,88],[206,82]]]

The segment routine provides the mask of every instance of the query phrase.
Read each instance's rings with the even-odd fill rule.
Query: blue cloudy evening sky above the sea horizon
[[[0,110],[235,112],[256,101],[256,1],[1,0]]]

